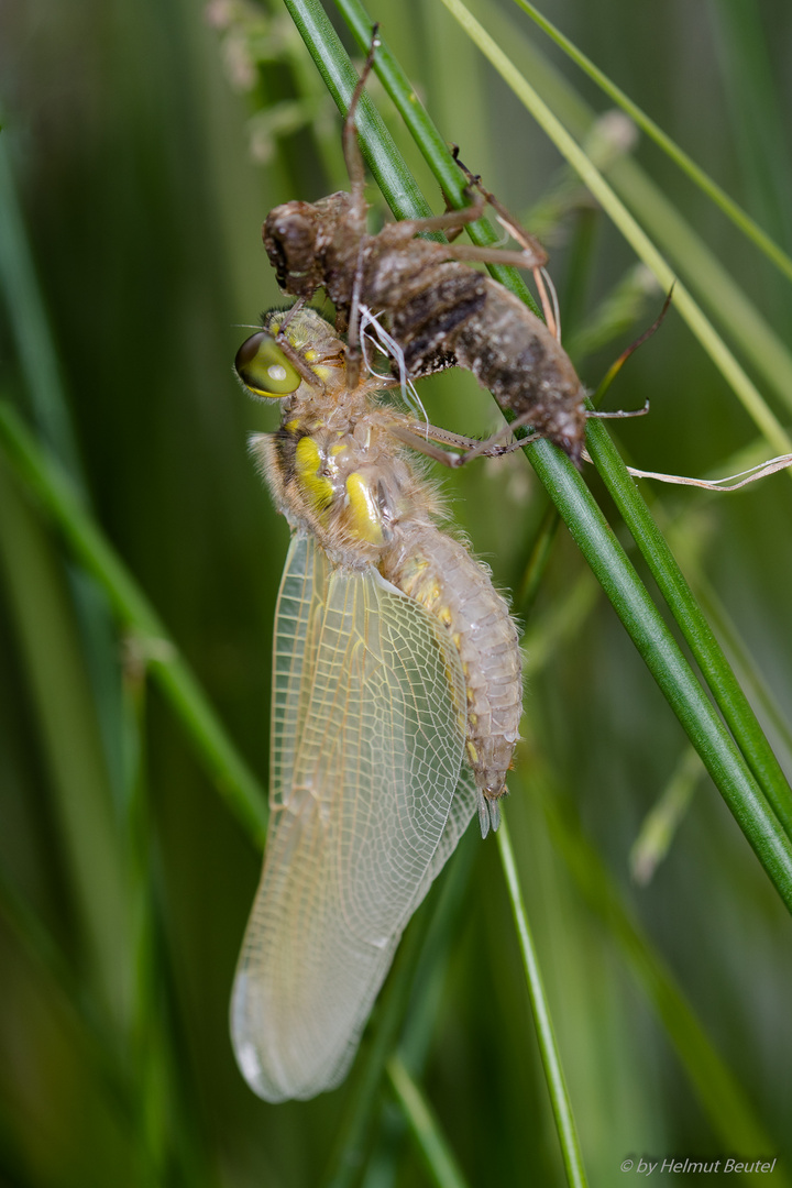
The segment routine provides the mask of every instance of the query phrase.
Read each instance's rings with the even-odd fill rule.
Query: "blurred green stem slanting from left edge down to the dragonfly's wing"
[[[259,782],[230,742],[159,615],[84,510],[69,478],[53,459],[47,459],[6,403],[0,403],[0,443],[21,481],[40,500],[75,556],[104,590],[119,621],[139,637],[152,676],[180,719],[204,767],[248,833],[261,842],[266,803]]]

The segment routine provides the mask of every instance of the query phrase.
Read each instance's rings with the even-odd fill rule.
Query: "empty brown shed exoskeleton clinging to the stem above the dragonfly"
[[[372,69],[376,39],[344,122],[350,190],[318,202],[286,202],[270,211],[264,246],[280,287],[300,302],[324,289],[336,308],[336,329],[348,334],[354,385],[367,323],[382,327],[395,345],[394,374],[416,379],[445,367],[464,367],[515,415],[513,428],[531,425],[579,467],[585,432],[585,391],[569,355],[527,305],[464,260],[539,270],[541,246],[513,222],[522,251],[477,248],[418,239],[422,232],[457,232],[477,219],[492,196],[470,189],[471,206],[433,219],[366,228],[363,162],[355,109]],[[476,179],[471,179],[474,183]],[[501,209],[498,207],[496,209]],[[426,450],[439,457],[439,451]],[[473,446],[470,453],[484,450]],[[456,461],[464,461],[465,455]],[[448,455],[443,461],[451,461]]]

